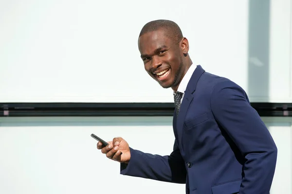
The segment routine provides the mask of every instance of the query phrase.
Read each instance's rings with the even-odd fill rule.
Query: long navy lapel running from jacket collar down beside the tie
[[[186,90],[184,91],[183,101],[180,108],[179,117],[177,119],[177,135],[180,147],[182,147],[182,135],[183,135],[183,124],[186,113],[189,109],[191,102],[193,101],[193,93],[196,90],[197,83],[201,77],[201,75],[205,72],[205,70],[201,67],[201,65],[197,65],[190,81],[187,84]]]

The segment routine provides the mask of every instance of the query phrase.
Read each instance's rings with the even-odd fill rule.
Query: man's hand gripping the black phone
[[[128,143],[121,137],[115,137],[108,142],[108,146],[104,147],[101,142],[97,143],[97,149],[101,149],[103,154],[117,162],[128,163],[131,157]],[[123,154],[121,154],[121,152]]]

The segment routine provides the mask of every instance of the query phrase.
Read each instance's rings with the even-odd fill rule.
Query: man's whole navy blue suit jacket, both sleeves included
[[[169,156],[130,148],[121,174],[185,183],[187,194],[269,194],[277,148],[236,83],[198,65],[173,130]]]

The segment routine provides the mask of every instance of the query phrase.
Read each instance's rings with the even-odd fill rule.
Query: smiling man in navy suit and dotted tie
[[[147,23],[138,46],[147,73],[174,91],[173,152],[143,153],[121,137],[97,148],[121,162],[121,174],[185,183],[187,194],[269,194],[277,148],[244,90],[192,65],[172,21]]]

